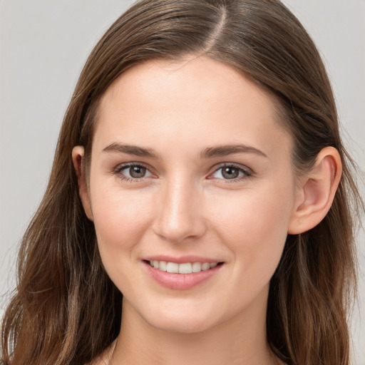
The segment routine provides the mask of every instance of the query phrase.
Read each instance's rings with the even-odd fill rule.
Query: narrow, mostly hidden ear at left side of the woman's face
[[[82,145],[76,145],[72,150],[73,167],[76,171],[78,180],[78,194],[81,197],[83,204],[83,210],[85,210],[86,216],[89,220],[93,220],[93,212],[91,211],[90,198],[88,195],[88,186],[86,184],[83,166],[84,149]]]

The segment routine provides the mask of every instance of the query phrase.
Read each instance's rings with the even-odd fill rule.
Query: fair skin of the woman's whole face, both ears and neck
[[[73,149],[83,207],[123,293],[115,348],[93,364],[278,364],[269,280],[287,234],[326,215],[341,162],[325,148],[296,176],[277,118],[271,96],[206,57],[148,61],[108,88],[88,179]],[[212,269],[163,272],[153,259]]]

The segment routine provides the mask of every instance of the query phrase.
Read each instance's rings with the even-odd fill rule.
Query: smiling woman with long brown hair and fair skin
[[[4,364],[349,364],[360,199],[338,129],[279,1],[135,4],[66,112]]]

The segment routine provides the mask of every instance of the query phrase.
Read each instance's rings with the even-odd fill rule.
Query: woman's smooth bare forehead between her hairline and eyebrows
[[[198,147],[203,135],[215,145],[267,145],[273,133],[289,138],[277,119],[274,98],[232,66],[205,56],[147,61],[125,71],[103,95],[95,136],[146,145],[196,139]]]

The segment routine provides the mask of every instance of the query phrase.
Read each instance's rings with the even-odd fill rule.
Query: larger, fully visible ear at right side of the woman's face
[[[341,173],[339,152],[333,147],[323,148],[312,170],[300,178],[297,201],[289,222],[289,235],[311,230],[323,220],[334,200]]]

